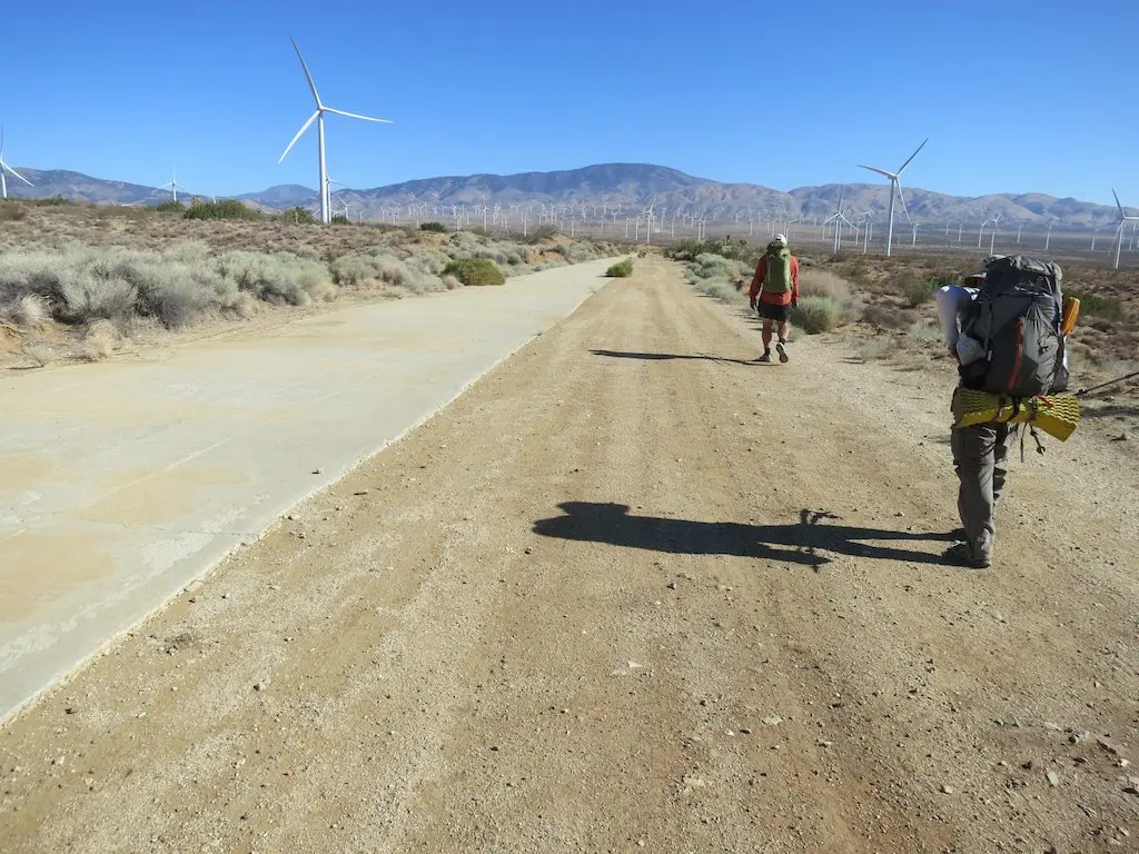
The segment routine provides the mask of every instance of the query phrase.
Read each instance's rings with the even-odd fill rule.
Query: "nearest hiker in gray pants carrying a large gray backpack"
[[[992,565],[994,511],[1009,452],[1022,424],[1034,427],[1038,411],[1059,400],[1049,395],[1067,388],[1064,336],[1075,319],[1065,312],[1062,280],[1060,268],[1049,261],[993,256],[966,287],[948,286],[936,295],[960,377],[951,445],[965,542],[945,552],[954,564]],[[977,407],[991,409],[977,414]]]

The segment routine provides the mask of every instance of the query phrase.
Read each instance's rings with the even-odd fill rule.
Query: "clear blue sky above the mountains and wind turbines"
[[[15,6],[15,8],[11,8]],[[195,192],[316,186],[294,35],[353,187],[645,162],[790,189],[874,180],[1139,207],[1133,0],[59,0],[5,9],[14,166]]]

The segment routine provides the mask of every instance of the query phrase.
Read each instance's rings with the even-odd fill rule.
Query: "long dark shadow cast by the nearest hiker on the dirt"
[[[535,522],[535,534],[671,555],[732,555],[782,560],[816,570],[831,561],[823,552],[911,564],[944,564],[940,555],[871,543],[943,542],[953,539],[953,534],[918,534],[827,524],[837,522],[839,517],[821,510],[801,510],[795,524],[744,525],[632,516],[628,504],[567,501],[558,507],[565,515]]]

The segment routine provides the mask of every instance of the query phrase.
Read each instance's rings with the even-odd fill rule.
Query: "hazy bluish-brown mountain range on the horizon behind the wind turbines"
[[[24,198],[64,198],[95,204],[151,205],[170,199],[170,190],[91,178],[63,170],[41,171],[18,167],[32,181],[27,187],[8,182],[9,195]],[[189,188],[194,190],[195,188]],[[1074,198],[1056,198],[1039,192],[992,194],[989,196],[950,196],[932,190],[903,186],[906,204],[915,222],[956,228],[980,225],[988,217],[1000,215],[1002,228],[1023,227],[1043,230],[1048,223],[1067,230],[1091,230],[1114,225],[1118,211]],[[752,183],[729,183],[695,178],[665,166],[609,163],[558,172],[524,172],[514,175],[461,175],[431,178],[372,189],[343,189],[336,192],[352,205],[352,215],[378,217],[385,208],[399,207],[404,214],[412,204],[437,208],[437,219],[446,219],[454,205],[608,205],[625,214],[654,205],[661,213],[683,212],[720,222],[739,219],[747,222],[770,215],[822,221],[833,214],[842,190],[843,210],[854,219],[871,212],[884,220],[890,199],[887,183],[836,183],[800,187],[782,191]],[[237,196],[260,210],[281,210],[318,202],[316,190],[300,184],[280,184],[260,192]],[[899,206],[895,221],[906,222]]]

